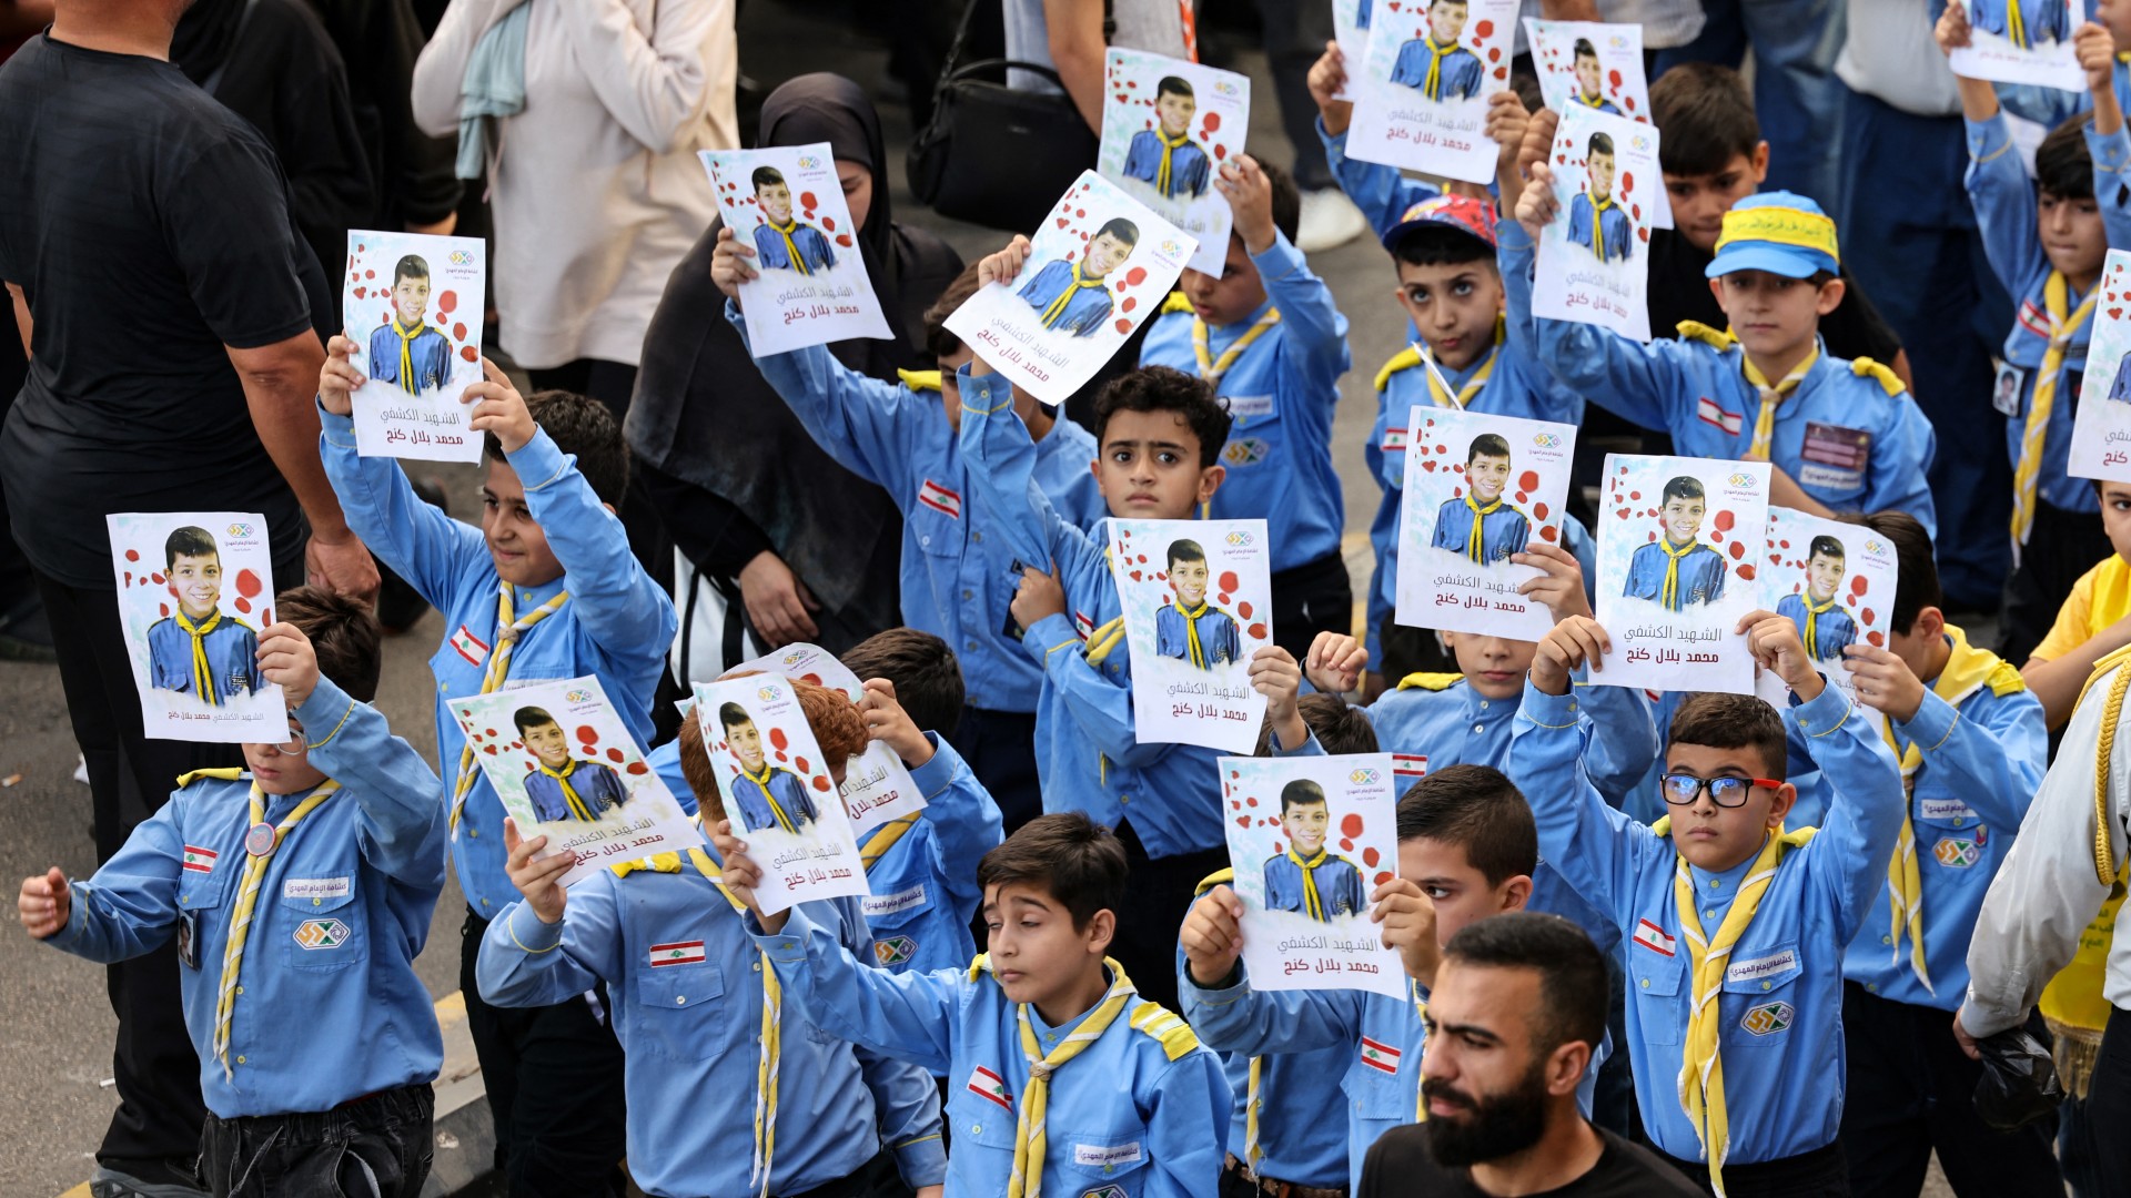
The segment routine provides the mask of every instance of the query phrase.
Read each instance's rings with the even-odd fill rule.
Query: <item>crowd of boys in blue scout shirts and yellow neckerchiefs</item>
[[[1963,13],[1948,4],[1939,21],[1948,51],[1967,45]],[[1560,215],[1556,113],[1494,94],[1494,194],[1441,192],[1345,153],[1349,64],[1334,45],[1311,72],[1319,132],[1381,237],[1415,341],[1372,373],[1364,456],[1383,501],[1360,603],[1332,450],[1347,318],[1294,245],[1294,183],[1251,156],[1195,164],[1234,211],[1223,266],[1185,271],[1138,369],[1102,388],[1085,428],[944,328],[978,288],[1021,273],[1019,237],[927,313],[938,373],[886,384],[823,345],[759,358],[823,450],[904,516],[906,627],[844,654],[863,695],[793,680],[797,703],[833,780],[878,742],[927,799],[863,838],[874,897],[763,910],[763,863],[729,819],[703,735],[714,727],[761,761],[748,714],[690,710],[678,740],[650,748],[678,616],[616,518],[631,456],[614,418],[578,394],[522,396],[484,362],[469,390],[488,454],[471,527],[422,501],[396,460],[356,454],[349,392],[364,379],[337,337],[320,454],[349,527],[443,614],[437,761],[371,708],[369,612],[288,590],[256,644],[217,650],[243,659],[226,674],[281,689],[288,740],[247,744],[247,772],[179,778],[94,878],[26,878],[21,923],[96,961],[175,940],[209,1108],[198,1175],[217,1196],[420,1192],[441,1040],[411,961],[448,863],[514,1194],[633,1181],[673,1198],[1315,1198],[1362,1192],[1372,1147],[1426,1121],[1434,1162],[1487,1192],[1475,1162],[1532,1149],[1553,1126],[1547,1102],[1566,1111],[1571,1094],[1609,1130],[1590,1143],[1639,1140],[1677,1170],[1671,1187],[1914,1196],[1935,1155],[1961,1194],[2067,1181],[2122,1194],[2093,1153],[2061,1160],[2054,1117],[2005,1130],[1978,1115],[1984,1066],[1954,1021],[2050,729],[2131,644],[2131,484],[2065,469],[2103,254],[2131,247],[2120,55],[2103,26],[2076,43],[2091,111],[2041,141],[2033,177],[1992,87],[1958,81],[1975,222],[2020,303],[2003,347],[2020,550],[1999,646],[1948,618],[1933,550],[1935,443],[1975,433],[1935,431],[1909,396],[1899,343],[1843,273],[1835,220],[1807,196],[1756,194],[1767,143],[1735,75],[1683,66],[1652,87],[1677,228],[1647,249],[1622,241],[1666,284],[1649,288],[1660,339],[1637,343],[1532,311],[1539,230]],[[1445,87],[1466,85],[1451,66]],[[784,181],[754,181],[784,196],[765,211],[788,217]],[[1575,220],[1592,243],[1620,239],[1594,213]],[[739,286],[780,254],[831,252],[727,230],[712,258],[727,303],[705,320],[746,337]],[[1884,644],[1835,614],[1816,625],[1826,595],[1813,590],[1735,629],[1788,706],[1592,684],[1615,642],[1594,618],[1590,531],[1568,516],[1553,544],[1485,524],[1479,505],[1449,548],[1532,567],[1524,595],[1551,631],[1534,644],[1400,625],[1417,405],[1579,426],[1605,409],[1681,456],[1767,463],[1771,503],[1892,546]],[[1831,465],[1826,428],[1867,452]],[[1479,477],[1507,454],[1481,437],[1466,467]],[[1662,505],[1698,518],[1698,484],[1675,482]],[[1308,883],[1313,902],[1368,912],[1406,972],[1396,998],[1251,987],[1219,752],[1136,733],[1104,518],[1266,522],[1272,644],[1247,661],[1266,701],[1262,757],[1426,759],[1398,799],[1396,876]],[[1839,561],[1824,541],[1809,556]],[[175,578],[198,546],[170,552]],[[1722,586],[1722,571],[1703,580],[1694,561],[1660,554],[1643,580],[1652,601]],[[1195,663],[1245,652],[1234,622],[1187,612],[1204,599],[1204,556],[1170,548],[1178,580],[1198,582],[1164,610],[1166,640]],[[173,629],[192,631],[188,614],[207,612],[179,599]],[[1831,657],[1845,686],[1824,674]],[[565,889],[575,855],[543,853],[546,838],[505,816],[450,708],[582,676],[650,748],[701,846]],[[970,718],[993,733],[965,759],[946,738]],[[595,819],[627,797],[614,770],[569,761],[550,712],[520,708],[518,731],[556,752],[526,787],[543,819]],[[1805,821],[1794,806],[1809,776],[1826,810]],[[797,780],[782,799],[759,787],[735,806],[833,802]],[[1291,806],[1323,816],[1317,804]],[[1560,919],[1464,936],[1517,910]],[[1519,957],[1560,936],[1573,951],[1547,949],[1545,968]],[[1573,1019],[1532,1032],[1560,1076],[1473,1089],[1500,1038],[1473,991],[1449,1021],[1430,1006],[1453,968],[1528,968],[1579,995]],[[2073,964],[2061,985],[2029,1023],[2086,1042],[2091,1068],[2108,1015],[2093,1015],[2099,970]],[[2073,1102],[2065,1121],[2078,1117]]]

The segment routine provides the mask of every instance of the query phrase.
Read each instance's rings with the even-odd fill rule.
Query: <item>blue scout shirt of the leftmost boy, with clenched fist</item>
[[[426,1085],[443,1068],[437,1010],[413,972],[443,891],[437,774],[330,678],[296,718],[313,738],[309,761],[341,789],[266,863],[230,1015],[232,1079],[213,1055],[215,995],[245,872],[249,774],[173,793],[94,878],[72,883],[72,914],[49,940],[111,964],[160,949],[181,919],[198,921],[198,968],[179,968],[179,989],[200,1096],[222,1119],[332,1111]],[[266,821],[307,795],[266,795]]]

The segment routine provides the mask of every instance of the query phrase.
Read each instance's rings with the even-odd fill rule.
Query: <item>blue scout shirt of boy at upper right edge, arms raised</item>
[[[2027,177],[2020,156],[2014,153],[2005,117],[1967,122],[1967,188],[1969,205],[1975,207],[1975,228],[1982,232],[1990,271],[1997,273],[1999,281],[2005,284],[2005,290],[2018,303],[2012,333],[2005,335],[2001,352],[2005,365],[2020,371],[2020,407],[2010,411],[2010,420],[2005,422],[2005,452],[2018,469],[2027,414],[2035,407],[2035,375],[2050,347],[2050,313],[2044,307],[2044,286],[2050,281],[2052,269],[2050,258],[2041,252],[2041,230],[2035,217],[2035,181]],[[2101,207],[2110,245],[2131,245],[2131,196],[2122,188],[2125,166],[2131,162],[2131,136],[2122,132],[2101,136],[2088,126],[2086,149],[2095,162],[2095,198]],[[2082,298],[2078,294],[2069,296],[2065,305],[2067,315],[2080,307]],[[2065,345],[2056,399],[2050,405],[2050,424],[2041,435],[2041,473],[2037,475],[2035,495],[2061,512],[2101,512],[2101,499],[2095,495],[2093,480],[2065,473],[2065,460],[2071,452],[2071,420],[2080,407],[2080,379],[2086,373],[2086,347],[2093,330],[2095,320],[2088,315]]]

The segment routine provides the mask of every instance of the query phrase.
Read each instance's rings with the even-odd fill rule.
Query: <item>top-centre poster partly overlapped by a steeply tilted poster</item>
[[[1251,128],[1251,77],[1136,49],[1104,55],[1104,179],[1198,241],[1187,266],[1219,275],[1232,213],[1215,188]]]

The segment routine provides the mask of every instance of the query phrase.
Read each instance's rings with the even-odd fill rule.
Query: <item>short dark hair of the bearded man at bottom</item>
[[[1445,961],[1485,970],[1539,974],[1541,1010],[1532,1019],[1532,1049],[1551,1053],[1571,1040],[1605,1040],[1611,1004],[1605,953],[1575,923],[1539,910],[1507,910],[1458,929],[1443,946]]]

